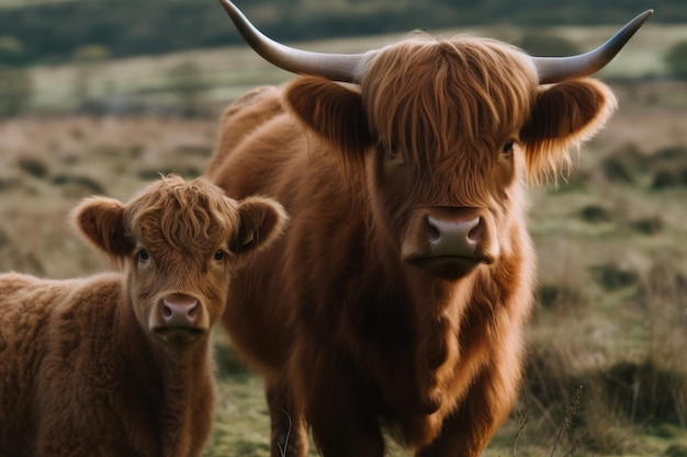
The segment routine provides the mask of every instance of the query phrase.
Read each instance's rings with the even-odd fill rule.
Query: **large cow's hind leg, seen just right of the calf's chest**
[[[271,457],[304,457],[307,454],[307,430],[302,409],[283,380],[266,382],[270,408]]]

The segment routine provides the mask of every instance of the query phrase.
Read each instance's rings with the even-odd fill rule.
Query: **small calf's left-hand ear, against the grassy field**
[[[91,197],[72,213],[74,225],[81,237],[115,261],[127,255],[133,244],[124,230],[124,205],[106,197]]]

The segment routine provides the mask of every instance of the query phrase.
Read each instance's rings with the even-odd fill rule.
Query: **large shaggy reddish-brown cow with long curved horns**
[[[264,375],[272,456],[303,456],[307,425],[327,457],[382,456],[383,430],[418,456],[478,456],[520,382],[526,181],[558,174],[609,118],[613,94],[585,76],[651,13],[562,60],[423,34],[335,56],[271,42],[223,4],[263,57],[316,75],[229,106],[206,171],[292,218],[223,321]]]

